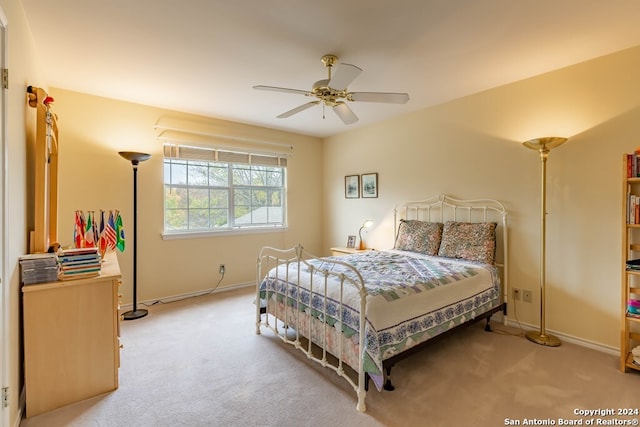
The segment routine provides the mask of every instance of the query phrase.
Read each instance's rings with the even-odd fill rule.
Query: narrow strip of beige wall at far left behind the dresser
[[[18,0],[0,0],[8,20],[7,68],[9,69],[9,89],[6,95],[5,144],[7,155],[6,221],[9,224],[5,234],[5,248],[2,251],[3,287],[8,286],[9,336],[3,343],[7,348],[8,360],[3,387],[9,387],[9,408],[3,409],[10,425],[18,425],[20,417],[20,391],[22,388],[22,345],[20,341],[20,275],[18,257],[27,251],[27,229],[33,222],[33,204],[28,198],[32,183],[28,179],[27,156],[32,150],[35,128],[35,109],[27,107],[26,88],[29,85],[43,86],[38,73],[39,64],[33,40],[24,18],[22,4]],[[31,193],[32,194],[32,193]],[[4,292],[4,288],[2,290]],[[5,412],[8,411],[8,414]],[[7,419],[5,418],[5,419]]]

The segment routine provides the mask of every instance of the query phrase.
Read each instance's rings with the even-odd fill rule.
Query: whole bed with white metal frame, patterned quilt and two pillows
[[[394,209],[387,250],[315,257],[301,245],[262,248],[256,333],[332,369],[366,410],[372,381],[393,390],[391,368],[437,339],[502,312],[506,323],[507,212],[492,199],[440,194]]]

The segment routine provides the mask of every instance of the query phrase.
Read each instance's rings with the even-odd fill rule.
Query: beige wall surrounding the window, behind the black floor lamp
[[[52,88],[60,127],[60,243],[73,243],[73,212],[119,209],[127,249],[118,252],[123,272],[123,302],[132,301],[133,172],[118,151],[150,153],[138,168],[138,301],[210,289],[226,265],[220,287],[255,281],[262,246],[302,242],[320,250],[322,234],[322,144],[319,139],[115,101]],[[286,232],[163,240],[162,120],[189,123],[212,132],[292,145],[289,159]],[[314,189],[314,191],[310,191]],[[249,302],[250,303],[250,302]]]

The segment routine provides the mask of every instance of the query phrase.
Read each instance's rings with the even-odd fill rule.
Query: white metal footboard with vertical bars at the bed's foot
[[[310,259],[320,260],[321,263],[311,264]],[[341,265],[349,271],[333,271],[335,266]],[[344,269],[343,269],[344,270]],[[309,279],[302,280],[302,275],[309,275]],[[353,273],[353,274],[351,274]],[[264,286],[265,281],[274,281],[275,290]],[[305,283],[301,285],[301,283]],[[339,287],[339,290],[329,288]],[[358,366],[351,366],[357,371],[357,381],[354,381],[345,371],[345,365],[349,366],[344,358],[344,343],[346,338],[342,334],[344,319],[343,297],[345,290],[355,288],[360,300],[359,331],[358,331]],[[327,301],[329,298],[338,297],[338,313],[328,313]],[[320,298],[311,301],[304,300],[303,295],[308,292],[310,298]],[[331,295],[331,296],[329,296]],[[282,301],[280,301],[280,299]],[[281,302],[281,303],[279,303]],[[320,302],[320,304],[318,304]],[[257,262],[256,275],[256,334],[261,333],[261,327],[271,329],[280,339],[302,351],[308,359],[323,367],[335,371],[345,378],[357,394],[358,403],[356,409],[366,411],[366,377],[364,372],[364,343],[366,326],[367,291],[360,273],[351,265],[336,259],[318,258],[306,253],[302,246],[281,250],[266,247],[260,251]],[[271,305],[270,305],[271,304]],[[304,311],[300,308],[304,307]],[[304,318],[307,316],[306,318]],[[330,325],[327,319],[334,317],[340,319],[335,325]],[[313,319],[321,319],[320,336],[314,331]],[[317,322],[316,322],[317,325]],[[337,351],[328,350],[328,337],[332,334],[338,337]],[[301,339],[304,338],[304,339]],[[306,341],[306,343],[304,342]],[[320,355],[314,353],[313,346],[320,350]],[[337,353],[337,354],[336,354]],[[328,356],[337,359],[330,361]]]

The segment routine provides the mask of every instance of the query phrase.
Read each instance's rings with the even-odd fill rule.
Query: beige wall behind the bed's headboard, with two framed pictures
[[[568,137],[547,164],[547,329],[619,348],[621,159],[640,146],[638,75],[640,47],[329,138],[324,246],[366,218],[372,245],[393,246],[404,200],[498,199],[510,212],[510,284],[534,291],[517,315],[538,325],[541,163],[521,141]],[[367,172],[379,173],[379,198],[346,200],[344,176]]]

